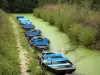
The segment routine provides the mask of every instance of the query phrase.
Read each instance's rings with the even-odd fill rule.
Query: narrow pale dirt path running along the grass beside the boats
[[[13,23],[13,28],[14,28],[14,32],[15,32],[15,37],[16,37],[16,42],[17,42],[17,47],[18,47],[18,51],[19,51],[19,59],[20,59],[20,71],[21,71],[21,75],[29,75],[26,71],[28,70],[28,58],[27,58],[27,50],[25,50],[22,46],[21,46],[21,42],[20,42],[20,33],[18,30],[18,25],[16,24],[16,22],[14,22],[13,18],[10,18],[11,22]]]

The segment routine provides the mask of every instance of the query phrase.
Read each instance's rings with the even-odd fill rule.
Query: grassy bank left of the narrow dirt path
[[[16,39],[9,19],[0,10],[0,75],[20,75]]]

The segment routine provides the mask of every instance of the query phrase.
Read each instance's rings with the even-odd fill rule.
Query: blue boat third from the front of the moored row
[[[32,37],[34,36],[41,36],[41,30],[36,30],[36,29],[32,29],[32,30],[28,30],[25,32],[25,36],[31,40]]]

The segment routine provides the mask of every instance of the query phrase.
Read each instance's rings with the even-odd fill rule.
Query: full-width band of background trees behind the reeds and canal
[[[32,12],[32,9],[46,4],[74,4],[77,7],[100,10],[99,0],[0,0],[0,8],[6,12]]]

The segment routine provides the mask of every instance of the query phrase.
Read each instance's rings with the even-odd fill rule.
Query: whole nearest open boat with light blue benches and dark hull
[[[43,52],[40,63],[41,66],[57,74],[72,73],[76,70],[72,62],[68,58],[64,58],[62,54]]]

